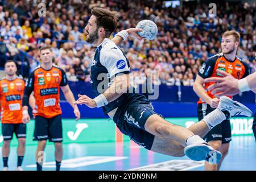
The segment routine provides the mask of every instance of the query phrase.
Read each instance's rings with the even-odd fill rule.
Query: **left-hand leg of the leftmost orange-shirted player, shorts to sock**
[[[8,158],[10,154],[10,143],[13,139],[14,125],[2,123],[2,134],[3,134],[3,146],[2,146],[2,156],[3,156],[3,171],[8,170]]]

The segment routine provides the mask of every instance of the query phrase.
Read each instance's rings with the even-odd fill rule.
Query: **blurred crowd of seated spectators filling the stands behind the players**
[[[68,80],[89,81],[94,48],[85,42],[84,27],[94,6],[117,11],[119,26],[110,38],[135,27],[139,20],[157,24],[156,39],[129,38],[120,45],[139,82],[150,73],[158,73],[156,84],[192,86],[200,65],[221,52],[221,35],[226,30],[240,32],[237,55],[254,71],[256,3],[217,4],[214,17],[208,14],[208,5],[196,2],[167,7],[164,1],[152,0],[42,1],[46,16],[40,17],[44,13],[38,7],[41,1],[1,2],[0,60],[15,60],[19,70],[23,69],[23,77],[38,65],[39,48],[48,45],[55,54],[54,63],[67,72]]]

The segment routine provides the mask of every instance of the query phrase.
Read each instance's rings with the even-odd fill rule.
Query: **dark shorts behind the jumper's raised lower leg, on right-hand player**
[[[199,121],[201,121],[205,115],[212,112],[214,108],[210,107],[208,104],[199,104],[197,107],[197,116]],[[222,143],[229,143],[231,138],[231,126],[230,121],[225,120],[220,124],[213,127],[207,135],[205,135],[204,140],[206,142],[213,140],[221,140]]]

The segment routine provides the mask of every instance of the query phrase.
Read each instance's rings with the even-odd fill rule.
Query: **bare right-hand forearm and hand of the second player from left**
[[[69,88],[68,85],[60,86],[60,88],[64,94],[64,97],[68,101],[68,103],[73,107],[74,114],[76,116],[76,121],[78,121],[80,119],[80,111],[76,105],[73,105],[73,103],[75,102],[75,97],[73,96],[71,89]]]

